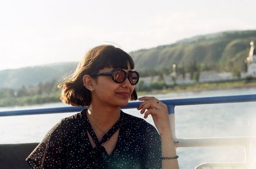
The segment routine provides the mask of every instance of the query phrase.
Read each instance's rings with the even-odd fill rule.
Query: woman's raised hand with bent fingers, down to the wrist
[[[167,106],[154,97],[144,96],[138,99],[143,101],[137,109],[141,110],[144,118],[146,119],[148,115],[151,115],[159,134],[170,134],[171,129]]]

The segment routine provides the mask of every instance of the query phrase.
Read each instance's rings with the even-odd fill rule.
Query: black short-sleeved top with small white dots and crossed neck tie
[[[108,154],[101,143],[117,129],[118,141]],[[120,119],[98,142],[82,110],[56,124],[26,161],[31,168],[161,168],[161,140],[154,126],[121,111]]]

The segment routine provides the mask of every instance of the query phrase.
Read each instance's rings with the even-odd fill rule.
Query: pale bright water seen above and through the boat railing
[[[256,94],[256,87],[247,89],[225,89],[218,91],[184,92],[155,95],[159,99],[198,98],[207,96],[229,96]],[[31,107],[0,108],[21,110],[67,106],[63,103],[35,105]],[[128,114],[141,117],[138,110],[124,110]],[[74,113],[73,113],[74,114]],[[45,133],[63,117],[72,114],[24,115],[0,117],[0,143],[40,142]],[[148,122],[153,124],[152,119]],[[227,103],[214,105],[193,105],[175,107],[175,127],[177,138],[211,138],[226,136],[256,136],[256,103]],[[251,150],[256,155],[255,149]],[[207,162],[242,162],[243,147],[193,147],[179,148],[181,169],[195,168]]]

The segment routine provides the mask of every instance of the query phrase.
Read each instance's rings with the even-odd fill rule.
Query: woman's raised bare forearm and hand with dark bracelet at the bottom
[[[141,114],[144,114],[144,118],[147,118],[148,115],[152,115],[154,124],[161,136],[162,168],[178,169],[179,163],[177,159],[172,159],[176,157],[177,154],[170,128],[167,106],[154,97],[142,97],[139,98],[139,100],[143,101],[143,103],[140,104],[138,110],[141,110]]]

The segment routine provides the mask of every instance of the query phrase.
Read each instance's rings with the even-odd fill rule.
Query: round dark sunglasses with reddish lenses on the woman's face
[[[98,76],[111,76],[112,80],[118,84],[124,82],[128,78],[131,85],[136,85],[139,82],[140,75],[138,71],[128,71],[128,73],[121,68],[113,69],[110,72],[97,73]]]

